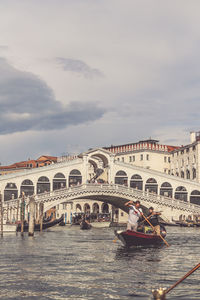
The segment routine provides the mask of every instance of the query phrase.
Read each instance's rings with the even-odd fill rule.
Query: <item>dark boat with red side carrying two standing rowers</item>
[[[126,230],[117,231],[115,235],[126,247],[131,246],[150,246],[159,245],[163,243],[162,238],[159,235],[153,233],[143,233],[138,231]],[[164,238],[166,236],[166,230],[164,226],[161,226],[161,235]]]

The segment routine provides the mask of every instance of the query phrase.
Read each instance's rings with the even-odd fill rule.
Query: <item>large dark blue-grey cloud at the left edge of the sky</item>
[[[63,106],[47,84],[0,58],[0,134],[52,130],[99,119],[104,109],[87,103]]]

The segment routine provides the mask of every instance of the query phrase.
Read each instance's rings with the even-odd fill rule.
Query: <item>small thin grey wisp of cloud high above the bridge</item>
[[[57,57],[56,61],[62,66],[63,70],[80,74],[85,78],[104,77],[101,71],[91,68],[82,60]]]

